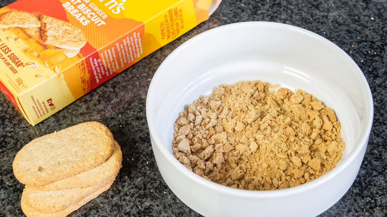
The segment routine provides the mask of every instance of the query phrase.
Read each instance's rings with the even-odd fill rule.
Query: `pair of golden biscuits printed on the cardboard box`
[[[40,12],[11,10],[0,15],[0,28],[14,27],[22,28],[47,49],[62,51],[67,57],[74,57],[86,45],[86,36],[81,29]]]

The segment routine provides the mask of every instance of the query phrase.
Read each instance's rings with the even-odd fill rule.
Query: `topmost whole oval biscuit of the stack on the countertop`
[[[25,145],[15,156],[13,172],[25,185],[47,185],[105,162],[113,145],[105,125],[80,123]]]

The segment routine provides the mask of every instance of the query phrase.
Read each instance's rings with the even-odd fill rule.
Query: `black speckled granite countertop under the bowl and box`
[[[0,6],[13,1],[0,0]],[[244,21],[305,28],[335,43],[359,65],[373,93],[374,125],[356,180],[321,216],[386,216],[386,11],[386,0],[223,0],[209,20],[36,126],[0,94],[0,216],[23,216],[24,185],[12,172],[16,153],[34,138],[85,121],[111,129],[122,146],[123,168],[111,189],[70,216],[200,216],[173,194],[157,169],[145,115],[147,89],[158,66],[179,45],[208,29]]]

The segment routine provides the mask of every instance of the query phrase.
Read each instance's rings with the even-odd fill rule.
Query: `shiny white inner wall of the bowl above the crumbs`
[[[157,145],[172,154],[173,124],[179,112],[200,95],[211,94],[214,87],[241,80],[302,89],[334,109],[346,144],[337,166],[356,146],[366,145],[373,103],[359,67],[323,37],[271,22],[217,27],[190,39],[165,59],[147,96],[149,129]]]

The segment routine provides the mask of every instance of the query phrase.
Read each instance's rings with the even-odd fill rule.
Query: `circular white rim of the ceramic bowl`
[[[154,88],[155,83],[157,82],[158,78],[163,76],[162,75],[162,69],[165,67],[165,65],[169,64],[169,62],[177,55],[179,55],[180,52],[182,52],[185,47],[190,46],[191,44],[194,44],[196,41],[202,40],[203,38],[207,37],[211,34],[216,34],[217,31],[223,31],[227,29],[232,28],[261,28],[261,27],[269,27],[269,28],[282,28],[284,30],[290,30],[290,31],[298,31],[300,34],[306,34],[308,36],[314,37],[320,41],[320,43],[325,44],[324,46],[329,46],[332,49],[336,50],[340,55],[345,57],[348,62],[353,64],[355,66],[356,71],[354,73],[358,73],[360,75],[360,82],[363,84],[363,89],[365,91],[366,95],[366,101],[367,105],[365,105],[366,115],[364,117],[363,122],[363,129],[361,131],[361,134],[359,136],[359,139],[355,142],[355,147],[353,150],[348,154],[348,156],[345,159],[342,159],[342,163],[336,165],[332,170],[325,173],[321,177],[308,182],[304,183],[299,186],[290,187],[286,189],[278,189],[278,190],[269,190],[269,191],[257,191],[257,190],[242,190],[242,189],[235,189],[232,187],[223,186],[220,184],[217,184],[215,182],[209,181],[205,178],[202,178],[195,174],[194,172],[190,171],[188,168],[186,168],[182,163],[178,162],[173,155],[167,150],[166,146],[164,146],[160,136],[157,134],[156,126],[153,121],[153,113],[148,112],[152,110],[152,101],[151,95],[157,92],[157,90]],[[226,24],[223,26],[216,27],[214,29],[207,30],[203,33],[200,33],[193,38],[189,39],[187,42],[180,45],[177,49],[175,49],[171,54],[169,54],[166,59],[160,64],[159,68],[156,70],[151,83],[149,85],[148,93],[147,93],[147,99],[146,99],[146,117],[149,127],[149,133],[150,136],[154,140],[154,144],[152,145],[157,146],[157,148],[160,150],[162,155],[167,159],[169,163],[171,163],[179,172],[186,175],[190,179],[192,179],[195,183],[200,184],[208,189],[212,189],[214,191],[217,191],[222,194],[226,195],[233,195],[238,197],[246,197],[246,198],[278,198],[278,197],[286,197],[290,195],[299,194],[301,192],[305,192],[311,189],[314,189],[320,185],[323,185],[324,183],[331,180],[335,174],[340,173],[343,171],[346,167],[348,167],[351,163],[355,161],[355,159],[361,155],[361,152],[364,148],[367,147],[369,135],[372,128],[373,123],[373,115],[374,115],[374,104],[373,104],[373,97],[371,93],[371,89],[369,87],[369,84],[367,82],[366,77],[364,76],[363,72],[359,68],[359,66],[356,64],[356,62],[347,54],[345,53],[341,48],[336,46],[333,42],[325,39],[324,37],[311,32],[309,30],[296,27],[289,24],[283,24],[283,23],[277,23],[277,22],[267,22],[267,21],[249,21],[249,22],[239,22],[239,23],[232,23],[232,24]],[[364,156],[362,156],[363,159]],[[340,160],[341,161],[341,160]],[[352,184],[352,183],[351,183]]]

